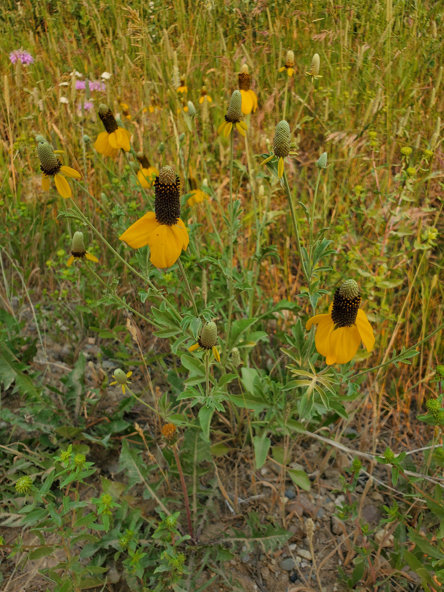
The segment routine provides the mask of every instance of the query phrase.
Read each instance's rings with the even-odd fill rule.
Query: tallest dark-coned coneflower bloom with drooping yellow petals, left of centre
[[[147,212],[119,238],[134,249],[150,247],[150,261],[157,268],[172,266],[188,247],[189,237],[181,216],[181,182],[170,166],[160,169],[154,182],[153,212]]]

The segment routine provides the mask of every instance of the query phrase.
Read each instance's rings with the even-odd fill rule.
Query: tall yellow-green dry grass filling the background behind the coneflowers
[[[157,1],[128,5],[28,0],[20,7],[12,0],[3,2],[2,309],[21,323],[31,301],[31,322],[40,330],[43,349],[46,335],[54,342],[68,342],[73,366],[89,337],[102,346],[95,371],[105,355],[149,368],[154,387],[174,390],[176,362],[168,342],[153,337],[152,327],[142,321],[139,345],[131,345],[122,307],[112,305],[112,299],[104,305],[102,285],[87,271],[66,268],[70,237],[79,228],[70,218],[57,217],[69,205],[53,183],[49,194],[41,190],[36,134],[64,150],[63,162],[82,172],[89,195],[74,186],[74,200],[91,223],[121,256],[141,265],[118,236],[152,208],[153,195],[136,185],[132,156],[111,160],[95,152],[93,144],[102,131],[96,112],[105,102],[121,114],[136,151],[159,169],[168,164],[176,170],[184,193],[189,189],[187,162],[198,185],[206,179],[209,204],[188,208],[183,200],[182,218],[188,222],[191,242],[181,259],[202,308],[208,305],[220,320],[223,350],[226,282],[208,258],[227,257],[224,215],[230,155],[229,141],[216,130],[246,63],[259,108],[245,118],[247,140],[235,137],[234,191],[243,213],[234,252],[238,285],[244,281],[253,287],[239,289],[234,313],[237,318],[257,317],[282,299],[299,303],[301,309],[290,307],[277,318],[264,317],[255,330],[268,337],[256,336],[255,348],[243,350],[244,365],[269,375],[281,372],[282,377],[283,336],[297,318],[305,321],[311,314],[300,298],[304,279],[284,192],[257,157],[272,149],[286,93],[286,118],[298,156],[285,169],[295,203],[302,202],[308,210],[317,179],[314,163],[322,152],[328,155],[314,230],[329,227],[326,236],[333,241],[334,253],[323,262],[332,271],[321,276],[320,288],[331,296],[345,279],[358,281],[376,336],[372,355],[358,360],[362,365],[378,366],[394,350],[414,346],[443,322],[442,26],[440,2],[356,1],[348,7],[211,0],[168,6]],[[10,63],[9,52],[20,47],[31,53],[33,64]],[[295,53],[293,78],[278,72],[288,49]],[[195,133],[173,85],[175,52],[179,75],[188,86],[186,99],[199,113]],[[311,83],[304,73],[315,52],[322,78]],[[105,91],[91,91],[91,111],[79,109],[85,91],[75,89],[75,70],[91,81],[101,79],[102,72],[111,73]],[[206,113],[198,102],[204,84],[213,99]],[[67,102],[60,102],[61,97]],[[124,118],[121,103],[128,105],[131,120]],[[160,109],[150,113],[146,108],[153,104]],[[405,147],[411,148],[410,155],[401,153]],[[408,168],[415,169],[411,176]],[[301,206],[297,216],[306,244],[310,229]],[[101,278],[149,317],[148,303],[138,296],[144,286],[96,236],[88,233],[88,242],[88,250],[100,259],[95,269]],[[270,246],[273,252],[266,250]],[[206,298],[202,277],[207,278]],[[112,283],[114,278],[120,278],[118,285]],[[150,278],[179,311],[186,310],[188,299],[177,271],[153,270]],[[318,303],[318,313],[326,311],[330,296]],[[176,353],[177,344],[172,347]],[[410,365],[385,365],[366,375],[361,385],[366,398],[359,398],[353,413],[357,411],[355,425],[368,435],[374,451],[386,425],[393,430],[391,445],[409,446],[410,423],[424,398],[436,392],[433,376],[442,362],[442,335],[437,333],[419,346]],[[47,379],[46,372],[36,377],[43,385]],[[167,407],[165,403],[161,413],[157,408],[155,423],[168,416]],[[343,427],[341,423],[338,430]]]

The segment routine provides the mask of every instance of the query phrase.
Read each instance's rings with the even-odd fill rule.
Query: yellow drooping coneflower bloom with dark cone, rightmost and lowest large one
[[[345,364],[355,356],[361,341],[368,352],[375,345],[375,336],[365,312],[359,308],[358,284],[348,279],[334,292],[328,314],[308,319],[305,329],[317,324],[314,342],[327,364]]]

